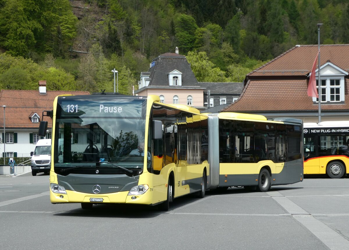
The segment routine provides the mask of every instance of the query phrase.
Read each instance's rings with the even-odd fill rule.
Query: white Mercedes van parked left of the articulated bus
[[[31,155],[31,174],[49,173],[51,169],[51,139],[41,139],[36,143],[34,152]]]

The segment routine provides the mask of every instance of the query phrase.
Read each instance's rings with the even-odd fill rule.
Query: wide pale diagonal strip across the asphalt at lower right
[[[328,227],[323,222],[314,218],[313,215],[306,212],[296,203],[289,200],[287,197],[272,196],[287,212],[305,226],[312,234],[319,238],[321,242],[327,245],[330,249],[349,249],[349,242],[342,235],[337,233],[332,228]]]

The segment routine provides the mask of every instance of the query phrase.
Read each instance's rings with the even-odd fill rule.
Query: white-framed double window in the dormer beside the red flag
[[[319,81],[316,81],[316,87],[319,88]],[[341,79],[321,79],[320,98],[321,103],[334,103],[344,101],[341,97],[343,90]],[[319,101],[316,98],[316,101]]]

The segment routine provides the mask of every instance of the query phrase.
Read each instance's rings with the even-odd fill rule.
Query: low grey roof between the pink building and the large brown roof
[[[244,83],[222,83],[222,82],[199,82],[201,87],[206,88],[203,92],[210,90],[211,94],[240,94]]]

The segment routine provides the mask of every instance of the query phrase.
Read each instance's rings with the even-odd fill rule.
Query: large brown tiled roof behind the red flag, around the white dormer
[[[307,95],[307,77],[318,45],[298,45],[246,75],[239,99],[222,111],[315,111],[318,104]],[[320,65],[328,60],[349,71],[349,44],[321,45]],[[345,103],[321,104],[322,110],[349,110],[349,79],[345,78]]]

